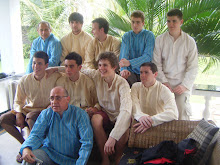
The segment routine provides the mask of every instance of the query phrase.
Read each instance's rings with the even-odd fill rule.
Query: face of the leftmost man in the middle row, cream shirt
[[[48,63],[45,64],[45,61],[43,58],[33,58],[32,62],[32,68],[35,76],[44,76],[45,69],[48,67]]]

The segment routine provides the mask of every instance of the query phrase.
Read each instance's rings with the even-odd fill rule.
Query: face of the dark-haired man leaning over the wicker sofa
[[[153,73],[149,66],[142,66],[140,69],[141,82],[145,86],[149,86],[151,84],[154,84],[156,77],[157,77],[157,73],[158,72]]]

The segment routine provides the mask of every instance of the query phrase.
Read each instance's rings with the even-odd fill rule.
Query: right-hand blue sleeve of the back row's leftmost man
[[[60,56],[62,54],[62,45],[60,41],[54,40],[50,45],[50,59],[49,59],[49,66],[58,66],[60,63]]]

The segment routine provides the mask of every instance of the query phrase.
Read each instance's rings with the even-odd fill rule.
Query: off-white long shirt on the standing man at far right
[[[183,31],[176,41],[169,32],[158,36],[153,62],[158,68],[157,80],[172,87],[183,85],[190,92],[198,71],[198,52],[192,37]]]

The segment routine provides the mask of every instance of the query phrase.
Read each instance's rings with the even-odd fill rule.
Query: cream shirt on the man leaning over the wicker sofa
[[[141,82],[131,88],[132,110],[136,120],[142,116],[151,116],[152,126],[178,119],[178,110],[174,94],[159,81],[149,88]]]

